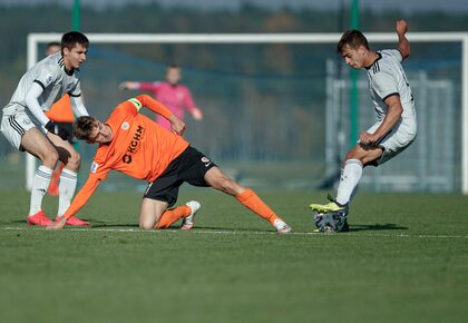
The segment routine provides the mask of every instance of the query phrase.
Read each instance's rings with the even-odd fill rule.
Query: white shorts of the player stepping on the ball
[[[381,124],[382,121],[376,123],[372,127],[368,129],[368,133],[376,133],[377,128],[379,128]],[[403,151],[406,148],[409,147],[409,145],[412,144],[412,141],[415,141],[416,133],[416,117],[401,118],[401,120],[393,126],[390,133],[388,133],[387,136],[381,138],[379,143],[377,143],[377,146],[382,148],[383,154],[379,159],[370,163],[370,165],[379,166]]]

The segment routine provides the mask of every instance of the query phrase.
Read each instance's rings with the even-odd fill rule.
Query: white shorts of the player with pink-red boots
[[[21,106],[3,109],[0,130],[10,145],[18,150],[25,150],[21,147],[21,138],[29,129],[35,127],[46,135],[43,127],[29,110]]]

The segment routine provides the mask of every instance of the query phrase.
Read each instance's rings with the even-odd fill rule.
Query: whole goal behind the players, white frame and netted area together
[[[415,87],[419,137],[394,163],[364,172],[364,188],[468,192],[462,149],[468,144],[462,127],[468,125],[468,72],[462,72],[467,35],[408,35],[412,55],[404,68]],[[286,189],[326,187],[337,179],[340,158],[350,148],[351,124],[349,68],[334,53],[340,35],[88,37],[91,47],[81,75],[91,115],[106,119],[117,104],[139,94],[119,90],[121,81],[164,80],[166,65],[177,63],[183,69],[182,82],[205,116],[202,121],[186,116],[186,138],[233,177],[248,186]],[[28,66],[42,57],[47,42],[59,38],[29,35]],[[397,43],[394,33],[368,33],[368,38],[373,49]],[[361,131],[373,123],[373,109],[365,74],[359,75]],[[81,178],[87,176],[95,148],[80,145]],[[25,167],[27,179],[36,169],[31,160]],[[445,167],[441,173],[440,167]],[[437,176],[429,176],[432,173]],[[145,186],[119,175],[110,176],[104,186],[128,189],[130,183]]]

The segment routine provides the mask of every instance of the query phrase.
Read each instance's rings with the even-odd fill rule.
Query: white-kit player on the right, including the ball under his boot
[[[318,212],[315,224],[320,231],[348,231],[348,208],[361,179],[362,168],[379,166],[404,150],[416,138],[417,120],[415,100],[401,62],[410,55],[406,38],[408,25],[396,23],[398,50],[373,51],[358,30],[341,37],[337,50],[345,63],[354,69],[365,68],[377,123],[359,137],[348,151],[337,198],[328,204],[311,204]]]

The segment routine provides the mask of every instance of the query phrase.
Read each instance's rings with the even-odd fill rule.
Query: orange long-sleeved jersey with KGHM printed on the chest
[[[64,216],[70,217],[78,212],[110,170],[152,183],[188,147],[189,144],[183,137],[139,115],[142,107],[166,118],[172,115],[166,107],[147,95],[137,96],[117,106],[105,123],[113,129],[113,140],[100,144],[97,148],[88,180]]]

